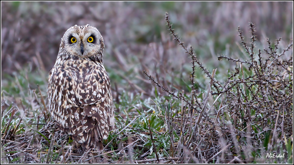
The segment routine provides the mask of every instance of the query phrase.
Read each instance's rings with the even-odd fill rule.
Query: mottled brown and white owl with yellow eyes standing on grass
[[[76,144],[96,151],[115,127],[103,52],[96,28],[75,25],[63,35],[48,79],[49,108],[57,126]]]

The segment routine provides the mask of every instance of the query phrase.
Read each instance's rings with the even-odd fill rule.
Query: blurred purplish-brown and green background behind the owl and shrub
[[[194,47],[209,71],[227,71],[234,64],[217,61],[220,53],[249,59],[238,26],[250,42],[248,24],[256,25],[258,48],[267,47],[267,37],[272,42],[282,37],[284,49],[293,39],[292,9],[293,2],[1,2],[1,79],[24,67],[48,73],[64,32],[75,24],[100,31],[104,65],[115,82],[144,81],[142,70],[158,79],[157,72],[165,77],[189,71],[191,59],[172,40],[165,12],[181,41]],[[292,56],[292,51],[287,53]]]

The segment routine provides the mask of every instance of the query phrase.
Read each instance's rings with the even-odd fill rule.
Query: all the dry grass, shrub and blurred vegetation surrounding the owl
[[[293,162],[292,2],[1,4],[1,163]],[[95,159],[47,109],[74,24],[103,35],[115,102]]]

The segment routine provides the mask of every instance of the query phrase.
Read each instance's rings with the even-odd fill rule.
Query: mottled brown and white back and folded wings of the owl
[[[59,126],[86,148],[106,139],[114,129],[114,116],[104,67],[89,61],[67,63],[52,69],[50,80],[52,116]]]

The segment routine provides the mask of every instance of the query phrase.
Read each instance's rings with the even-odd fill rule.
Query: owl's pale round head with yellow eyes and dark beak
[[[102,62],[104,41],[100,32],[87,24],[86,26],[72,26],[61,39],[62,52],[74,58],[91,58]],[[61,55],[62,56],[62,55]]]

